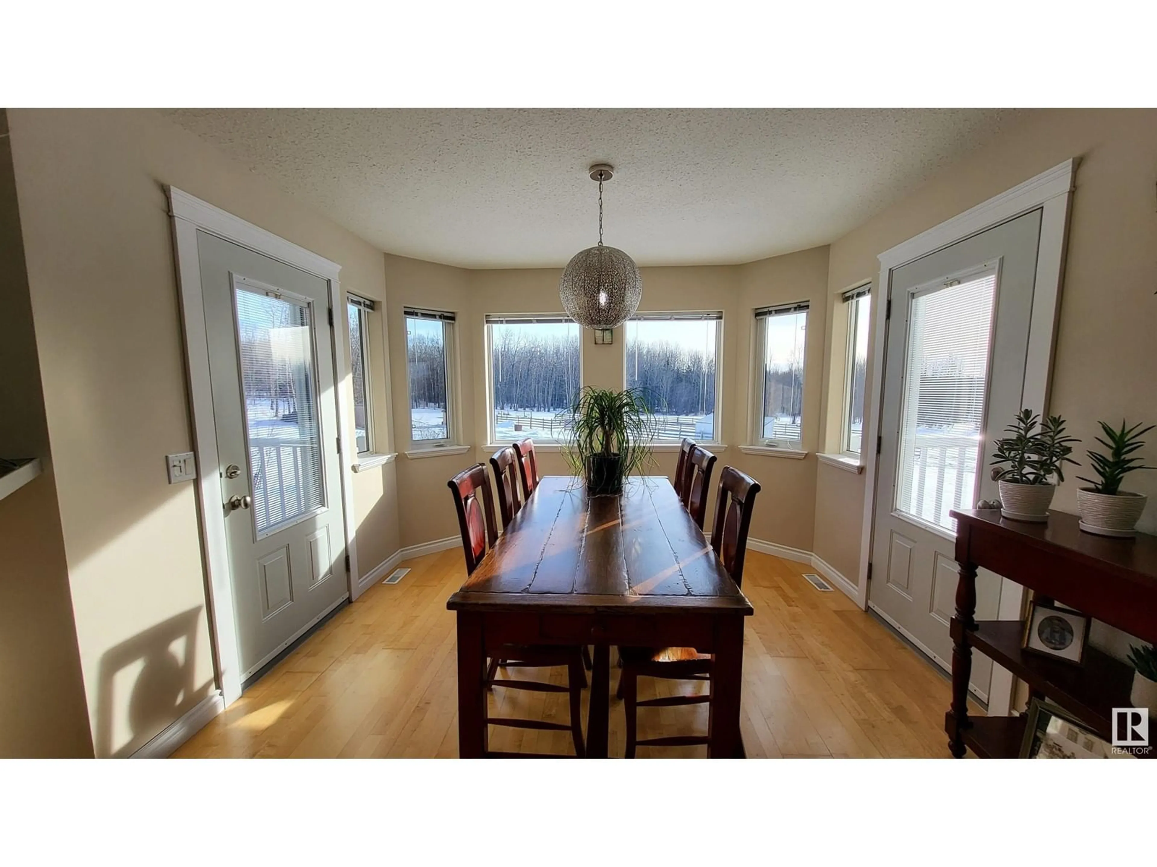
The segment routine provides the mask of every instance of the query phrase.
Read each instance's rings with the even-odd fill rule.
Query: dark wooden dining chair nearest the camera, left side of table
[[[491,492],[491,480],[486,475],[486,466],[476,464],[464,469],[447,484],[454,494],[454,506],[458,513],[458,529],[462,532],[462,548],[466,555],[466,575],[473,575],[486,557],[486,553],[498,541],[494,527],[494,496]],[[575,645],[514,645],[499,649],[486,669],[487,689],[503,687],[535,692],[567,692],[570,698],[570,720],[568,724],[538,719],[517,719],[513,717],[491,717],[488,706],[482,712],[484,726],[509,726],[513,728],[537,728],[570,732],[575,755],[584,756],[585,746],[582,735],[582,690],[587,687],[587,673],[583,670],[583,649]],[[544,683],[539,681],[498,677],[499,665],[510,665],[524,668],[551,668],[566,666],[567,686]],[[495,754],[499,755],[499,754]]]

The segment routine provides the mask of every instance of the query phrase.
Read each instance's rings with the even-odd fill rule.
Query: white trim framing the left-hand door
[[[234,617],[229,554],[226,544],[224,512],[220,509],[224,495],[221,490],[219,474],[212,472],[212,468],[220,465],[220,460],[218,459],[216,428],[213,417],[213,391],[209,380],[208,339],[201,297],[201,268],[197,253],[197,232],[200,230],[215,235],[327,281],[329,303],[334,311],[336,324],[346,320],[341,284],[338,281],[341,266],[176,187],[167,186],[165,192],[169,195],[169,215],[172,217],[177,284],[180,294],[180,314],[185,341],[185,370],[193,421],[193,453],[197,455],[198,467],[197,507],[200,512],[201,546],[205,551],[205,595],[209,614],[218,688],[221,690],[224,705],[229,706],[241,697],[242,670]],[[353,525],[353,490],[346,453],[355,440],[351,428],[353,413],[347,406],[346,391],[341,387],[341,384],[349,377],[349,354],[346,351],[348,336],[344,328],[334,327],[332,331],[333,390],[337,395],[338,425],[342,442],[338,459],[341,467],[346,551],[349,555],[347,581],[351,598],[354,598],[358,594],[356,581],[353,580],[353,576],[358,575],[358,551]],[[211,472],[206,472],[207,469]]]

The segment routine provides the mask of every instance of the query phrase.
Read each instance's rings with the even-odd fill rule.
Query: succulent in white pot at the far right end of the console
[[[1141,437],[1154,425],[1142,429],[1140,424],[1134,424],[1127,428],[1122,418],[1121,429],[1115,430],[1105,422],[1097,423],[1105,433],[1105,438],[1097,437],[1097,442],[1108,449],[1108,454],[1089,452],[1089,461],[1098,477],[1077,476],[1092,486],[1077,491],[1081,529],[1103,536],[1134,536],[1147,498],[1143,494],[1121,490],[1121,481],[1126,474],[1137,469],[1157,468],[1142,466],[1141,458],[1134,454],[1144,446]]]

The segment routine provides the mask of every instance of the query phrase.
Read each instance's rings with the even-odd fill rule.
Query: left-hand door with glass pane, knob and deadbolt
[[[207,232],[197,249],[244,681],[348,595],[330,286]]]

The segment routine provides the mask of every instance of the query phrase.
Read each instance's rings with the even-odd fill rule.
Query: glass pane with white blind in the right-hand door
[[[945,529],[975,499],[995,289],[987,268],[911,299],[896,507]]]

